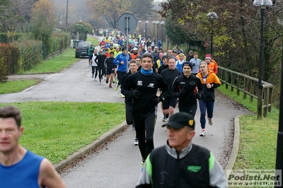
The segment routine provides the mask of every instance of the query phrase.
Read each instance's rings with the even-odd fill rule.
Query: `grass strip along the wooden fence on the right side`
[[[225,86],[218,88],[221,93],[229,95],[233,100],[245,105],[253,112],[257,109],[257,100],[249,102],[231,92]],[[275,170],[277,131],[279,126],[279,110],[272,107],[272,112],[262,120],[257,119],[257,114],[243,115],[240,117],[240,146],[234,170]]]

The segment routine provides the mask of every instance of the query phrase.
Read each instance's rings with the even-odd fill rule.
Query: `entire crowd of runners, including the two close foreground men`
[[[125,37],[115,30],[97,34],[100,48],[88,47],[88,66],[94,81],[105,81],[109,88],[115,84],[115,90],[121,86],[126,121],[136,131],[134,145],[141,153],[136,187],[227,187],[224,170],[212,152],[192,143],[197,101],[200,136],[206,136],[206,122],[213,124],[214,89],[221,83],[212,54],[201,61],[197,52],[185,56],[182,49],[174,48],[165,53],[150,36]],[[159,102],[168,140],[154,148]],[[177,105],[180,112],[174,113]],[[49,160],[19,145],[21,117],[18,107],[0,108],[1,187],[66,187]]]

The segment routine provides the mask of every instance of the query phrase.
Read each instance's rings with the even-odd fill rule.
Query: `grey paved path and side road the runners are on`
[[[0,102],[27,101],[100,101],[123,102],[120,94],[108,84],[98,84],[91,78],[91,67],[87,59],[80,59],[69,69],[58,74],[47,74],[41,77],[45,81],[20,93],[0,95]],[[176,111],[178,108],[176,109]],[[230,100],[216,96],[214,108],[214,124],[207,125],[207,136],[200,137],[200,112],[197,110],[195,119],[196,136],[193,143],[209,148],[216,158],[223,161],[224,153],[231,147],[227,139],[231,136],[232,120],[239,114]],[[166,130],[161,128],[163,122],[161,108],[158,109],[158,119],[154,134],[155,146],[166,143]],[[134,187],[141,172],[141,156],[138,146],[134,146],[134,131],[131,128],[122,133],[117,140],[110,143],[102,151],[69,172],[62,174],[67,187]]]

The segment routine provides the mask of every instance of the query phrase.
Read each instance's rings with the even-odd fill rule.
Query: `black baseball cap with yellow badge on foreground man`
[[[175,129],[181,129],[187,126],[195,129],[195,119],[187,112],[178,112],[173,114],[166,124],[162,125],[162,127],[166,126],[173,127]]]

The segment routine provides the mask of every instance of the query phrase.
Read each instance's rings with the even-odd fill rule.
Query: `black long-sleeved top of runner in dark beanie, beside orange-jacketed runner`
[[[198,93],[196,92],[198,89]],[[185,89],[185,94],[180,96],[180,90]],[[189,107],[197,105],[197,99],[203,93],[202,82],[200,78],[191,74],[189,78],[184,74],[175,78],[173,86],[171,88],[171,95],[175,98],[179,98],[179,107]]]

